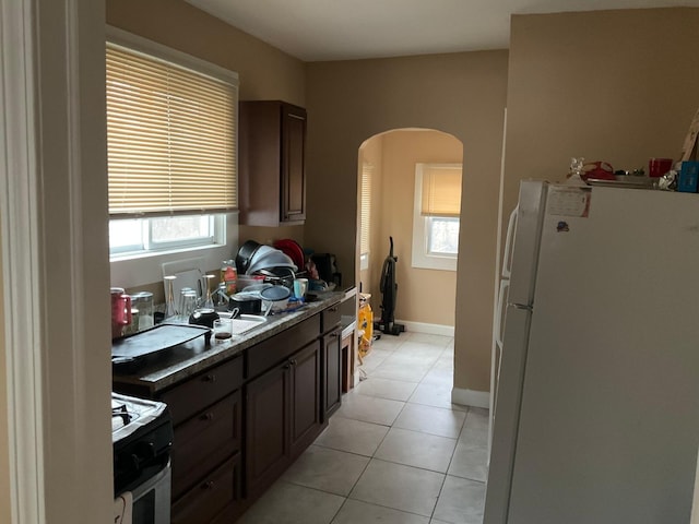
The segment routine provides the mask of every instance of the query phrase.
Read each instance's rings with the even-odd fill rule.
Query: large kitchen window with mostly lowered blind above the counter
[[[112,255],[225,243],[237,209],[237,74],[109,31]]]

